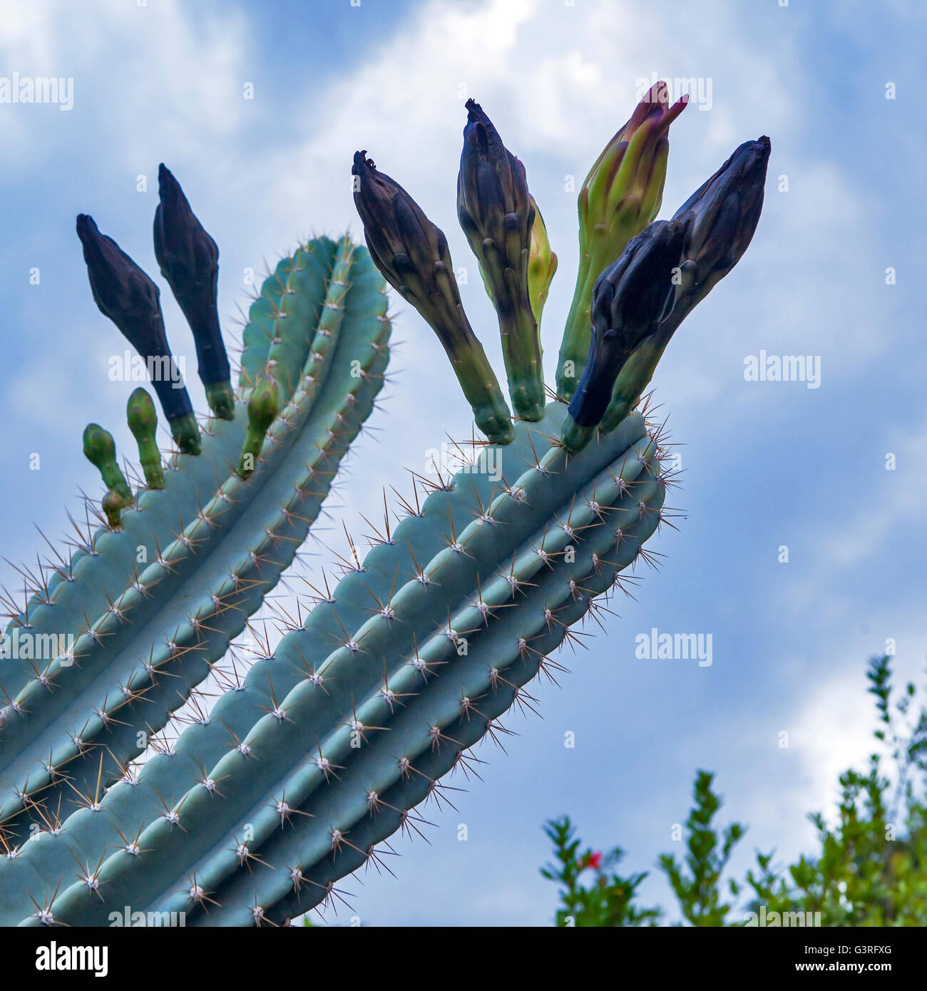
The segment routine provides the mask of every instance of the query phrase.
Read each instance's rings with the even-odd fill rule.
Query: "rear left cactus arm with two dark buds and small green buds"
[[[163,188],[166,176],[185,203],[162,166]],[[69,805],[75,794],[92,798],[118,780],[209,674],[290,566],[383,384],[390,333],[383,280],[363,249],[322,238],[264,283],[245,328],[235,394],[221,336],[213,332],[218,252],[194,258],[207,269],[205,279],[197,281],[195,265],[179,272],[177,224],[165,222],[163,205],[156,225],[162,268],[173,266],[174,292],[194,334],[197,327],[209,332],[200,373],[225,416],[210,418],[200,436],[183,412],[188,400],[173,394],[185,389],[169,383],[174,406],[166,412],[180,410],[181,440],[199,453],[174,454],[165,472],[154,403],[136,389],[128,419],[145,485],[135,495],[112,436],[97,424],[84,431],[84,452],[109,490],[101,502],[105,525],[61,562],[7,629],[38,643],[52,634],[66,647],[47,658],[21,651],[0,659],[7,699],[0,710],[0,822],[14,836],[30,824],[46,826],[48,810]],[[143,353],[170,355],[157,287],[90,218],[78,226],[101,308]],[[214,249],[198,221],[194,233]],[[166,254],[166,237],[173,255]],[[101,257],[112,264],[98,265]],[[202,285],[205,298],[197,300]],[[152,341],[139,327],[155,328]],[[275,403],[264,404],[256,419],[265,383],[274,384]],[[229,395],[234,404],[225,401]]]

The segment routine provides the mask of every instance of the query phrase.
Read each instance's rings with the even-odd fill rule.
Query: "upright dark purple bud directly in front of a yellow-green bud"
[[[457,177],[457,216],[499,315],[503,357],[516,413],[544,411],[537,322],[528,296],[534,206],[524,165],[506,148],[479,103],[467,100]]]

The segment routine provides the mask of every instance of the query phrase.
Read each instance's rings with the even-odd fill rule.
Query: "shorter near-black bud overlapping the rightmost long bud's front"
[[[671,311],[685,233],[680,221],[655,221],[596,281],[589,360],[569,405],[577,426],[599,423],[625,362]]]

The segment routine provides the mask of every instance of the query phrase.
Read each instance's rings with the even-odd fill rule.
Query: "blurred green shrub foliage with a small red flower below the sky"
[[[726,877],[747,829],[739,823],[716,825],[722,802],[714,775],[696,773],[685,855],[677,860],[663,854],[658,860],[685,923],[756,925],[761,914],[761,924],[782,925],[799,913],[822,926],[927,926],[927,709],[916,712],[913,684],[896,691],[891,658],[873,658],[867,677],[877,715],[876,752],[865,771],[850,769],[840,776],[831,823],[821,813],[809,816],[817,830],[816,854],[785,864],[776,861],[774,850],[757,850],[742,880]],[[662,908],[637,904],[647,872],[623,876],[621,847],[608,853],[583,848],[566,816],[547,823],[544,831],[554,861],[541,874],[559,884],[558,926],[667,921]]]

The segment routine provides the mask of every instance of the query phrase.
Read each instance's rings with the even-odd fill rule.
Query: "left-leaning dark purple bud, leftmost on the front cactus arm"
[[[447,352],[477,426],[493,443],[513,438],[509,407],[460,301],[447,239],[406,190],[354,156],[354,203],[370,256],[387,281],[430,324]]]

